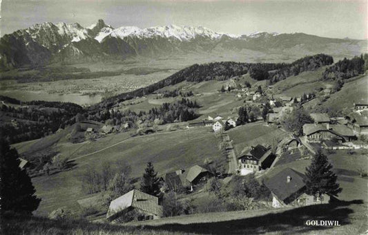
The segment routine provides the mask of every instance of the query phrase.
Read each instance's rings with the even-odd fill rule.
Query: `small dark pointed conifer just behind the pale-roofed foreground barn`
[[[152,162],[147,163],[147,167],[144,170],[141,190],[146,194],[157,196],[159,194],[159,178],[157,178],[157,172],[153,168]]]

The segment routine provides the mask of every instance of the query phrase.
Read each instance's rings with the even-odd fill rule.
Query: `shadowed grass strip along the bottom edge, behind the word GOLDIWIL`
[[[85,220],[8,218],[3,234],[363,234],[367,204],[362,200],[259,211],[217,212],[120,224]],[[307,226],[307,220],[338,220],[339,227]]]

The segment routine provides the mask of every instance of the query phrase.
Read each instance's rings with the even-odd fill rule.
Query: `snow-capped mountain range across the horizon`
[[[46,22],[1,37],[0,69],[224,50],[301,56],[326,53],[350,57],[365,53],[367,40],[331,39],[302,32],[230,35],[202,26],[113,28],[102,19],[89,27],[79,23]]]

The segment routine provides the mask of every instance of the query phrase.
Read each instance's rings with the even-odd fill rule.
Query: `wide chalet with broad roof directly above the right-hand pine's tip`
[[[329,129],[329,126],[323,124],[304,124],[303,134],[307,142],[322,142],[323,140],[336,139],[338,142],[345,142],[345,138]]]

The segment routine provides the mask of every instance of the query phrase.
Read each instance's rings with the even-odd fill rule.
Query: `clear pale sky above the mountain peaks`
[[[1,0],[0,0],[1,1]],[[368,39],[368,1],[1,1],[1,35],[35,23],[98,19],[121,26],[204,26],[215,32],[304,32],[321,37]]]

